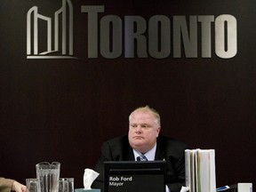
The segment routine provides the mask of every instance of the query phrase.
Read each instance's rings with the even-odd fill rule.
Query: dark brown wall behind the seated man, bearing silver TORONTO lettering
[[[38,14],[53,18],[62,2],[1,2],[1,176],[25,182],[36,177],[37,163],[59,161],[60,177],[74,177],[81,188],[102,142],[126,133],[132,110],[149,105],[162,117],[163,134],[216,150],[218,187],[256,185],[254,0],[70,2],[66,52],[59,36],[59,52],[47,54],[39,54],[48,46],[45,20],[38,24],[37,53],[31,28],[27,44],[36,15],[28,10],[37,6]],[[97,17],[89,5],[98,5]],[[223,17],[223,50],[222,15],[230,16]]]

